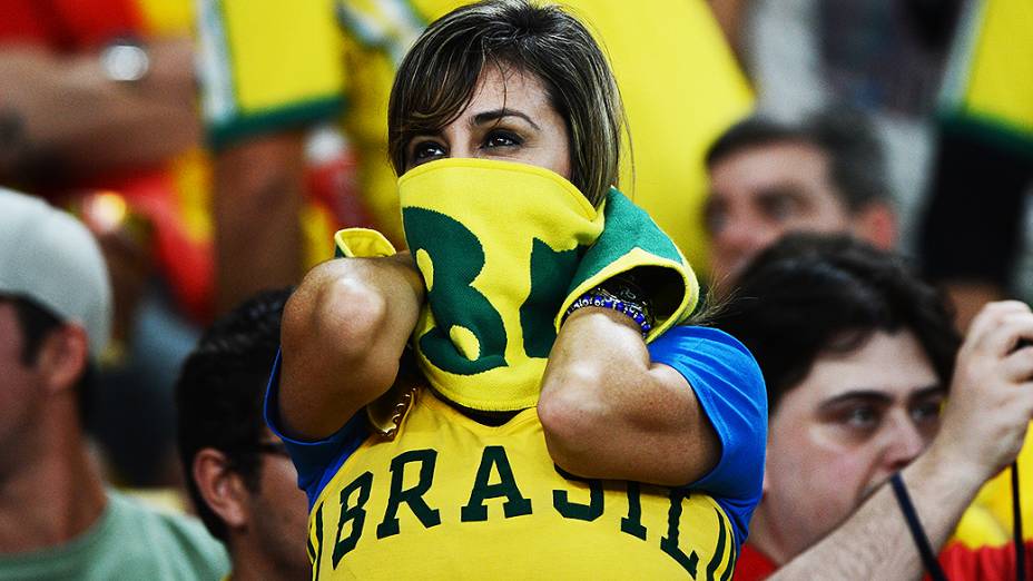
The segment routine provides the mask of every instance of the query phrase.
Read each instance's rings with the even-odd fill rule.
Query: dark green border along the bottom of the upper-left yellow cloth
[[[347,100],[336,96],[238,115],[229,121],[209,127],[206,141],[217,151],[250,137],[333,119],[342,115],[346,107]]]

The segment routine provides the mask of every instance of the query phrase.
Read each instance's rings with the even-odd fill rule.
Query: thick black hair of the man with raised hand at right
[[[873,333],[914,333],[951,385],[961,336],[942,293],[903,260],[845,235],[789,234],[760,253],[712,325],[757,358],[774,413],[823,354],[849,353]]]

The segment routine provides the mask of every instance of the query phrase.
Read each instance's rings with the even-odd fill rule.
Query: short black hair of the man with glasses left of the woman
[[[193,476],[194,456],[205,447],[218,450],[248,490],[259,491],[262,405],[292,290],[259,293],[216,321],[187,356],[176,384],[187,490],[208,531],[223,541],[226,525],[200,496]]]

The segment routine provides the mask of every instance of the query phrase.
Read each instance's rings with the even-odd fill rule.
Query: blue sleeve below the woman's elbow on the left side
[[[263,414],[269,430],[284,441],[294,467],[297,469],[297,488],[308,495],[308,510],[323,492],[341,465],[370,435],[363,414],[355,414],[344,426],[329,437],[315,442],[305,442],[284,435],[278,424],[279,418],[279,353],[273,364],[269,385],[265,392]]]

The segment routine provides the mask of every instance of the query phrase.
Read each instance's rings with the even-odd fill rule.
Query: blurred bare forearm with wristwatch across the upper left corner
[[[0,176],[52,163],[73,174],[148,166],[198,144],[190,40],[157,40],[148,53],[147,77],[122,83],[97,52],[0,50]]]

